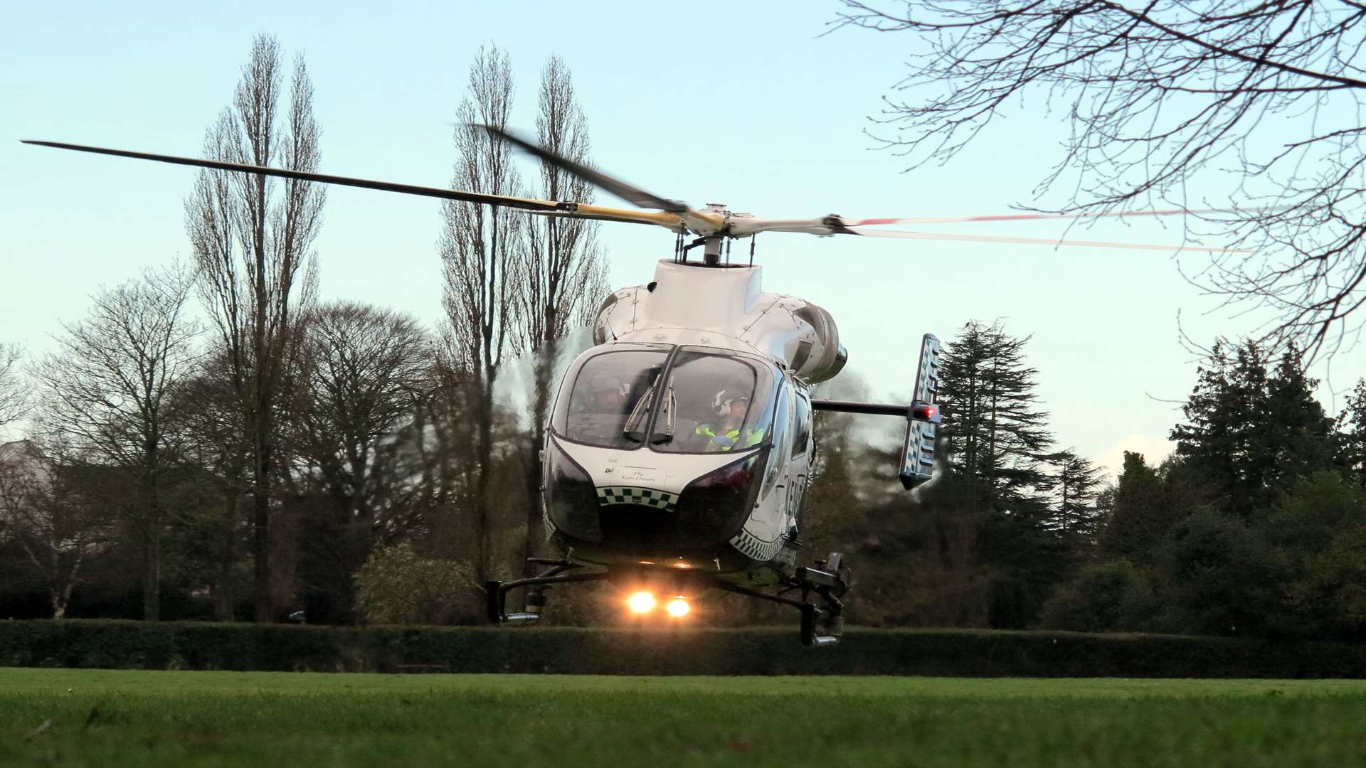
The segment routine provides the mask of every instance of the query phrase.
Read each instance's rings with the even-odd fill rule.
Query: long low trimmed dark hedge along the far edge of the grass
[[[617,675],[1363,678],[1366,644],[1153,634],[851,629],[324,627],[0,622],[0,666]]]

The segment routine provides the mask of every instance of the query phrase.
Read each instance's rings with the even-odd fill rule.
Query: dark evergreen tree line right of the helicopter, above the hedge
[[[945,344],[947,461],[911,499],[893,451],[869,447],[846,415],[821,415],[813,544],[848,553],[851,615],[878,626],[1366,635],[1366,380],[1328,414],[1294,346],[1270,355],[1217,342],[1172,426],[1175,454],[1154,466],[1126,452],[1106,482],[1059,450],[1027,340],[968,323]]]

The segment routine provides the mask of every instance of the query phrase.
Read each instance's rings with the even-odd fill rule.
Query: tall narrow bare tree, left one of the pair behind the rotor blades
[[[520,179],[512,148],[479,124],[504,128],[512,105],[512,70],[507,53],[481,48],[470,67],[470,94],[456,111],[458,160],[451,186],[460,190],[518,194]],[[516,286],[522,261],[523,217],[500,206],[447,201],[440,239],[447,328],[443,353],[448,368],[466,374],[473,388],[475,477],[467,511],[473,514],[475,573],[489,578],[492,519],[489,478],[493,463],[493,380],[515,333]]]

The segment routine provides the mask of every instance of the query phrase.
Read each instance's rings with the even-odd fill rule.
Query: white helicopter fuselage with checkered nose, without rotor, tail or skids
[[[567,559],[753,585],[795,567],[814,462],[810,387],[846,354],[829,313],[765,294],[759,279],[758,266],[661,261],[652,283],[602,303],[596,344],[567,370],[546,430],[545,522]],[[602,381],[626,394],[620,410],[581,413]],[[723,395],[736,389],[750,410],[728,432],[735,443],[719,444]]]

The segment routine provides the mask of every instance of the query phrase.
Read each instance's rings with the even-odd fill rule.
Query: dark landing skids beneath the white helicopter
[[[586,573],[570,573],[583,566],[568,560],[548,560],[531,558],[527,563],[549,566],[544,573],[530,578],[514,581],[486,581],[485,611],[489,623],[501,625],[529,625],[541,618],[546,604],[546,590],[560,584],[581,584],[589,581],[607,581],[613,574],[607,570]],[[702,588],[714,588],[755,600],[768,600],[783,605],[791,605],[800,611],[802,645],[806,648],[824,648],[836,645],[844,631],[844,604],[840,597],[848,590],[848,568],[843,566],[843,556],[839,552],[831,553],[825,560],[817,560],[818,567],[800,567],[791,578],[783,582],[783,588],[776,593],[768,593],[747,586],[729,584],[714,577],[699,573],[688,573],[687,577]],[[507,596],[514,589],[526,589],[526,608],[520,612],[507,612]],[[802,597],[787,597],[788,592],[800,590]],[[814,599],[820,600],[817,604]]]

